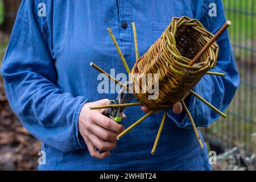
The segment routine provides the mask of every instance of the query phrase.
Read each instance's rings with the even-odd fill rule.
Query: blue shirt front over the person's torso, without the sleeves
[[[106,72],[126,73],[109,36],[111,28],[130,69],[135,63],[133,29],[135,22],[139,56],[160,37],[172,17],[199,18],[203,1],[46,1],[49,49],[55,61],[57,86],[88,102],[114,99],[117,90],[109,80],[108,93],[100,93],[97,64]],[[122,23],[127,23],[127,28]],[[110,69],[114,69],[110,71]],[[126,74],[127,75],[127,74]],[[128,76],[127,76],[128,78]],[[125,81],[125,80],[122,80]],[[126,80],[127,81],[127,80]],[[139,106],[127,107],[125,127],[141,118]],[[93,159],[85,150],[63,153],[43,146],[47,165],[40,169],[209,169],[207,152],[201,150],[193,130],[178,128],[167,119],[155,155],[150,151],[163,113],[152,115],[118,141],[112,155]],[[196,118],[195,118],[196,119]]]

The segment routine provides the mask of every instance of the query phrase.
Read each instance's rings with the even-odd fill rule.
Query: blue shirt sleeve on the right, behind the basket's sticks
[[[216,4],[217,16],[209,16],[209,3]],[[200,22],[203,23],[205,28],[212,32],[212,34],[215,34],[226,22],[224,7],[220,0],[204,1],[203,9],[201,11]],[[193,91],[207,100],[210,104],[217,107],[217,109],[225,111],[238,88],[240,78],[236,68],[228,30],[226,30],[224,34],[217,39],[217,44],[220,47],[217,64],[216,67],[210,71],[225,73],[226,76],[205,75],[193,88]],[[189,96],[185,100],[185,103],[195,121],[196,126],[207,127],[220,117],[219,114],[210,109],[210,107],[193,95]],[[185,111],[176,115],[170,109],[168,111],[168,116],[176,123],[177,126],[186,129],[192,128],[191,122],[189,121],[188,115]]]

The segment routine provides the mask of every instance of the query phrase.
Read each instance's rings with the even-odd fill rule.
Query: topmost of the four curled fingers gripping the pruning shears
[[[115,133],[121,133],[125,129],[123,125],[116,123],[112,119],[102,114],[92,114],[91,119],[97,125],[100,125],[105,129],[114,131]]]

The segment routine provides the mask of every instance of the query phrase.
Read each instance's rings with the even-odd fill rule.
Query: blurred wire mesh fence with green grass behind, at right
[[[227,18],[233,22],[229,35],[241,84],[226,110],[227,118],[218,119],[206,133],[221,139],[222,148],[240,146],[252,154],[256,152],[256,1],[223,2]]]

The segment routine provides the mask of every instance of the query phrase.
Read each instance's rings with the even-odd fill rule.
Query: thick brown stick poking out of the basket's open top
[[[217,31],[217,33],[212,37],[212,39],[210,39],[210,41],[205,44],[205,46],[203,47],[203,49],[201,49],[201,51],[199,53],[197,53],[196,57],[188,64],[189,66],[192,66],[193,64],[196,63],[197,60],[199,60],[199,58],[201,57],[201,55],[203,55],[203,53],[205,51],[207,51],[207,49],[212,46],[212,44],[218,39],[218,37],[226,30],[226,28],[228,28],[228,26],[231,25],[230,20],[226,21],[226,23],[220,28],[220,30]]]

